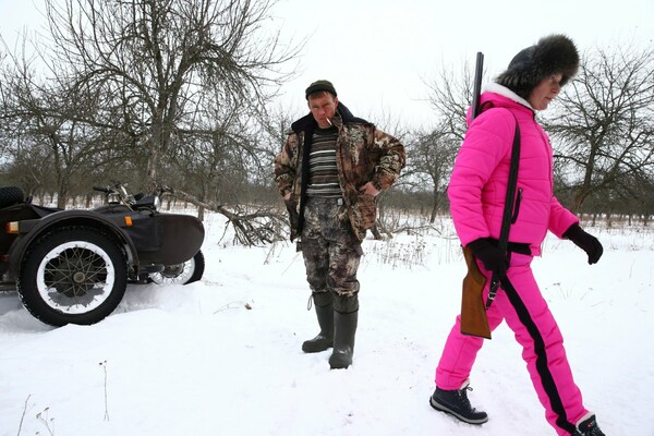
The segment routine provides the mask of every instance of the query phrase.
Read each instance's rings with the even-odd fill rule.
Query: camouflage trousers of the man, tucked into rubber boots
[[[363,250],[352,232],[342,199],[307,198],[302,230],[302,255],[306,281],[314,295],[325,292],[341,298],[356,295],[356,270]]]

